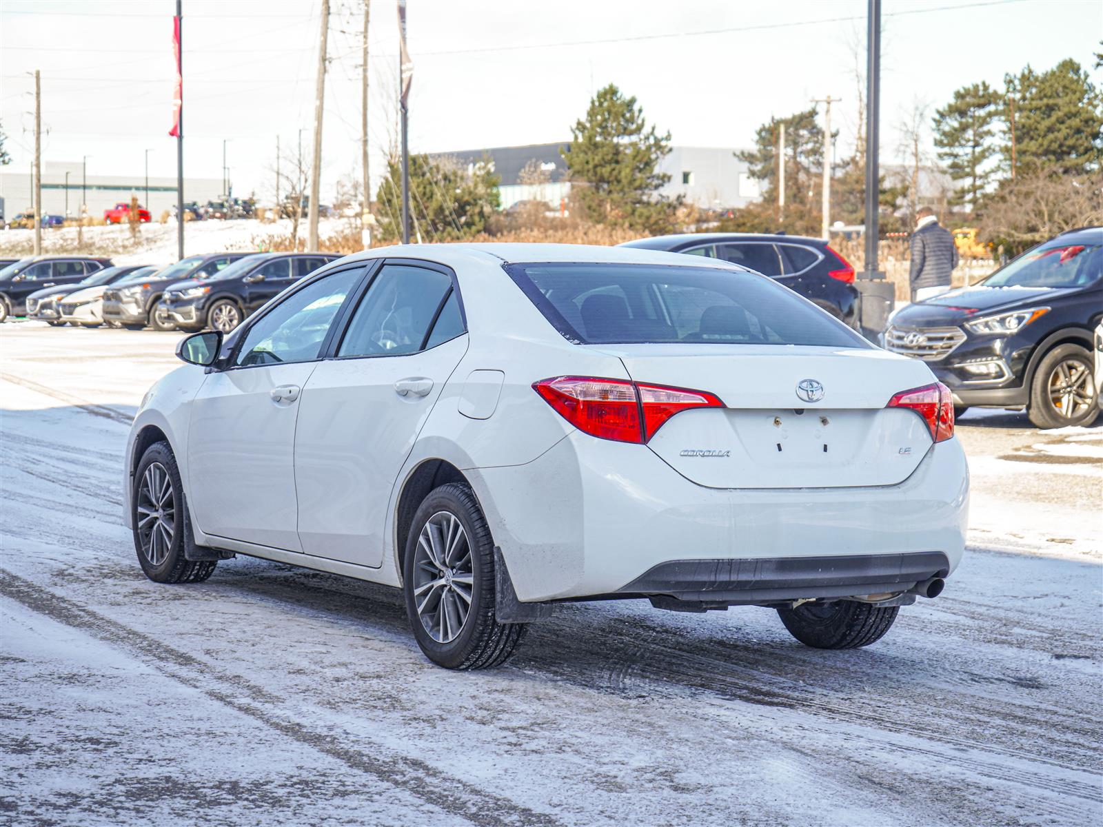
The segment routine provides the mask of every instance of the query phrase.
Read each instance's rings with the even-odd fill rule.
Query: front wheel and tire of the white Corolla
[[[168,442],[146,449],[131,494],[135,550],[146,577],[156,583],[201,583],[211,577],[216,560],[184,557],[192,527],[180,469]]]

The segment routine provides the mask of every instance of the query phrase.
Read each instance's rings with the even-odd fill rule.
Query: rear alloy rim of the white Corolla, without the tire
[[[473,589],[467,531],[454,514],[437,512],[421,527],[414,558],[418,619],[437,643],[450,643],[463,631]]]

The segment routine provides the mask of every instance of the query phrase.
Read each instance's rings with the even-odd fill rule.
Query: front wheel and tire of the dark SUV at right
[[[1030,384],[1030,421],[1039,428],[1088,425],[1097,414],[1091,354],[1074,344],[1047,353]]]

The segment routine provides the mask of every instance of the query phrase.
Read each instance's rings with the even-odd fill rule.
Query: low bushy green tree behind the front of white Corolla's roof
[[[399,160],[389,159],[376,195],[379,235],[388,240],[401,238],[401,174]],[[488,157],[464,169],[453,159],[410,155],[411,235],[452,241],[482,233],[502,204],[500,181]]]

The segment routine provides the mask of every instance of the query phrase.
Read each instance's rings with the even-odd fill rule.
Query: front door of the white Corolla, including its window
[[[189,502],[204,533],[301,550],[295,425],[333,318],[362,275],[342,270],[286,297],[245,332],[233,365],[192,405]]]

